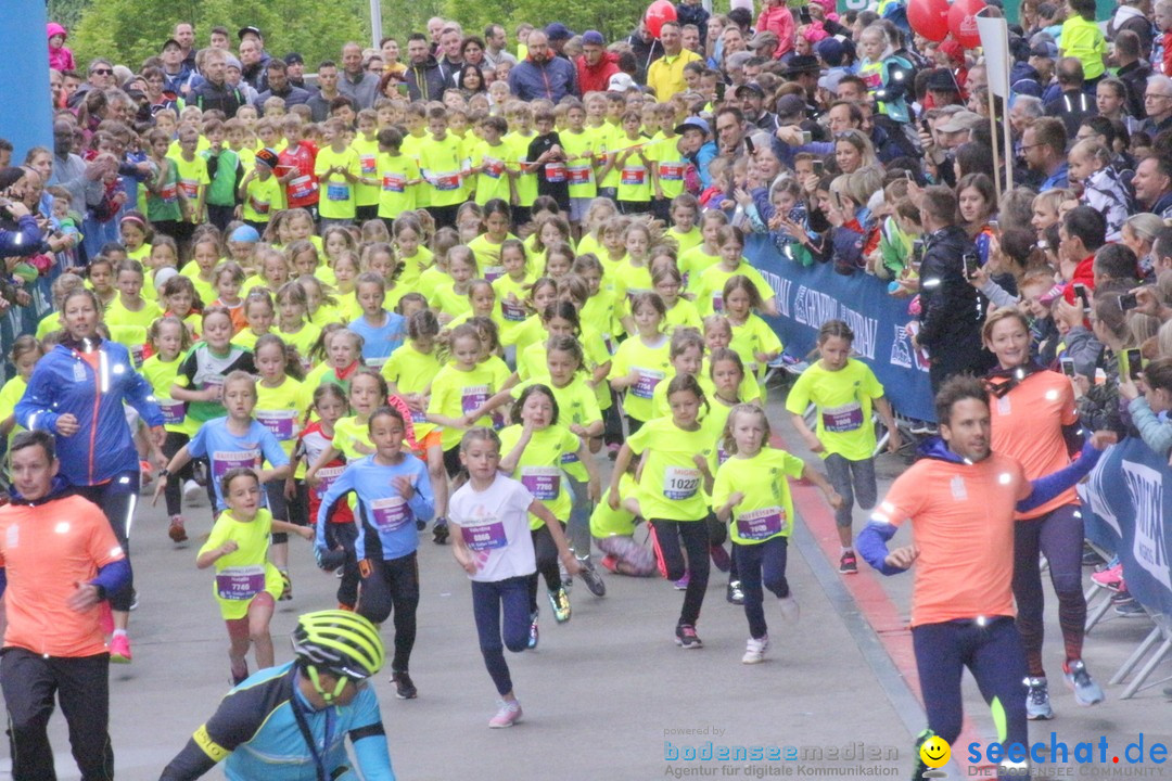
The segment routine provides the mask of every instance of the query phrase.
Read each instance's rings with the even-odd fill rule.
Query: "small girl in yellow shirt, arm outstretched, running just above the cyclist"
[[[274,520],[260,506],[260,479],[247,467],[233,467],[225,472],[220,479],[220,493],[227,509],[216,519],[207,542],[196,556],[196,567],[216,567],[212,595],[227,624],[232,685],[238,686],[248,677],[246,656],[250,644],[258,670],[271,667],[274,663],[268,622],[273,617],[274,600],[281,592],[281,578],[277,568],[266,561],[268,535],[273,529],[280,529],[308,540],[313,532]]]

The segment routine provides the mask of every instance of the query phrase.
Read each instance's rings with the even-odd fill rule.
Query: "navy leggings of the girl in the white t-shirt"
[[[504,649],[519,653],[529,648],[529,578],[522,575],[491,583],[472,581],[472,615],[476,618],[484,666],[489,669],[497,693],[504,697],[512,691]]]

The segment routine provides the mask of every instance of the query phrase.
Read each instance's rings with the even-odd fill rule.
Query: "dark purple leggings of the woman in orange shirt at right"
[[[1044,677],[1042,638],[1045,594],[1038,552],[1050,563],[1050,582],[1058,596],[1058,625],[1067,659],[1083,657],[1086,600],[1083,598],[1083,519],[1077,505],[1063,505],[1045,515],[1014,523],[1014,600],[1017,631],[1026,648],[1029,674]]]

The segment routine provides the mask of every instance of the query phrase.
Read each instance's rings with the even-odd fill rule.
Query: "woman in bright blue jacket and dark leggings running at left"
[[[16,404],[16,420],[29,431],[55,436],[61,475],[75,493],[102,508],[129,563],[127,533],[138,496],[138,451],[122,405],[142,416],[156,448],[166,436],[163,412],[127,348],[98,335],[102,308],[94,292],[71,292],[61,310],[67,335],[33,370]],[[132,581],[110,595],[111,662],[130,662],[127,623],[132,601]]]

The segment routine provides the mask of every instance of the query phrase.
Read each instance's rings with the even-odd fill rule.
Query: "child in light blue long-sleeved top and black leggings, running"
[[[331,506],[346,493],[357,496],[355,520],[361,525],[354,553],[362,576],[357,612],[381,624],[394,612],[395,656],[390,680],[398,699],[415,699],[408,674],[415,646],[415,610],[420,604],[416,523],[431,518],[435,505],[427,467],[403,452],[407,424],[394,407],[374,411],[368,420],[373,455],[352,461],[329,486],[318,508],[315,548],[323,554]]]

